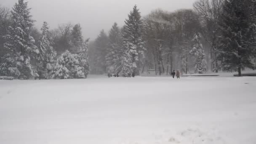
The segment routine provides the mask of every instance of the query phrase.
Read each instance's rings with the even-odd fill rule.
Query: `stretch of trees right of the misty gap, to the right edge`
[[[193,9],[157,9],[141,18],[134,6],[123,27],[113,24],[89,44],[91,73],[169,75],[256,68],[256,2],[198,0]]]

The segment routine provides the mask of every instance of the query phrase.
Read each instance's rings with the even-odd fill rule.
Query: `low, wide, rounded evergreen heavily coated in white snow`
[[[54,77],[59,79],[85,78],[79,55],[69,51],[62,53],[57,59]]]

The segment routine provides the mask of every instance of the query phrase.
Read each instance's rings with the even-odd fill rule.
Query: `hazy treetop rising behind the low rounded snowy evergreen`
[[[72,53],[77,53],[82,50],[84,41],[81,29],[80,24],[76,24],[71,31],[70,45],[72,46]]]

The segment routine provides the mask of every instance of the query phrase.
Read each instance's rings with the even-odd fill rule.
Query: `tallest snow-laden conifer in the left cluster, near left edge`
[[[5,55],[8,74],[18,77],[19,79],[29,79],[34,76],[34,70],[30,60],[39,54],[35,40],[29,35],[34,20],[31,19],[30,8],[27,2],[19,0],[11,11],[11,26],[8,29],[8,35],[5,35],[6,43],[4,44],[8,54]]]

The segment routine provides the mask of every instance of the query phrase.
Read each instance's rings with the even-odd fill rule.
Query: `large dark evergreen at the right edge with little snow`
[[[251,57],[255,54],[255,19],[251,0],[225,0],[221,16],[221,37],[218,59],[224,71],[254,69]]]

